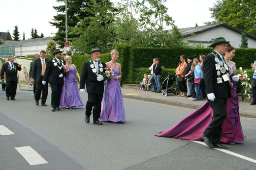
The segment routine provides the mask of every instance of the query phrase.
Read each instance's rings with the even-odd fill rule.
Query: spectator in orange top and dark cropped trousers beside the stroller
[[[180,62],[179,66],[176,69],[176,75],[177,75],[177,82],[178,82],[178,87],[181,91],[181,93],[178,96],[186,96],[187,88],[186,88],[186,81],[184,79],[184,71],[185,68],[187,67],[187,63],[185,61],[185,55],[180,56]]]

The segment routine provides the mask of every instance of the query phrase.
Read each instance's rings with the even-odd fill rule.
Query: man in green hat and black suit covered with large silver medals
[[[201,137],[205,144],[211,148],[227,148],[220,143],[220,139],[222,124],[226,118],[226,101],[227,98],[231,97],[229,68],[223,57],[228,43],[223,37],[214,39],[213,44],[209,46],[214,50],[203,61],[206,94],[213,109],[213,118]],[[233,80],[237,80],[237,78],[239,79],[236,75],[232,77]]]

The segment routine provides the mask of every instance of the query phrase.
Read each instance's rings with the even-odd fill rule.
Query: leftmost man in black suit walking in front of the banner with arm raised
[[[14,63],[14,57],[12,55],[8,56],[8,62],[2,65],[1,69],[1,81],[3,82],[3,74],[5,72],[6,80],[6,99],[15,100],[16,90],[17,90],[17,72],[21,71],[21,66],[17,63]]]

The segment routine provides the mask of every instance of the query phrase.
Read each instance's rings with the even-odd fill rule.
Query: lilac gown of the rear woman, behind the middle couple
[[[72,65],[73,66],[73,65]],[[76,68],[71,67],[71,71],[64,76],[64,85],[62,88],[62,96],[60,106],[64,107],[80,107],[84,103],[80,97],[77,81],[75,78],[75,73],[77,73]]]

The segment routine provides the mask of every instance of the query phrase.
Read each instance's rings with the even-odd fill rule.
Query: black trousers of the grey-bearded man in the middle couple
[[[85,116],[90,117],[93,110],[93,117],[94,121],[97,121],[100,116],[101,111],[101,100],[102,100],[103,94],[88,94],[88,100],[85,106]]]

